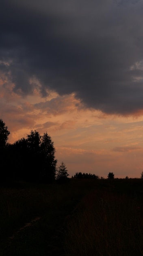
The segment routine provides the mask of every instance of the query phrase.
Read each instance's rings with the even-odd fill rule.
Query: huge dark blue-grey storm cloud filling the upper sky
[[[15,92],[37,86],[76,93],[85,106],[130,114],[143,108],[143,2],[3,0],[0,70]]]

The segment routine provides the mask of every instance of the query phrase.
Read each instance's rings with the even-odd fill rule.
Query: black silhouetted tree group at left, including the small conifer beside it
[[[56,150],[47,132],[40,135],[31,130],[26,138],[13,144],[7,142],[9,135],[8,127],[0,119],[0,181],[14,179],[51,183],[67,179],[69,174],[65,164],[62,162],[56,168]]]

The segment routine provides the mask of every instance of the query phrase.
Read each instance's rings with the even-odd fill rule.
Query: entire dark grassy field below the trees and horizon
[[[0,186],[0,256],[143,255],[143,180]]]

